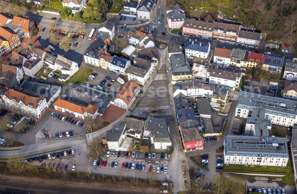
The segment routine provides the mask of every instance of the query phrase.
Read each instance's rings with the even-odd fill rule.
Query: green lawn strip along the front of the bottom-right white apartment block
[[[245,167],[244,165],[236,165],[236,164],[230,164],[229,166],[226,166],[224,164],[224,170],[230,170],[230,171],[251,171],[251,172],[267,172],[269,173],[285,173],[287,176],[284,177],[275,177],[274,178],[282,178],[282,182],[287,185],[294,185],[295,179],[294,179],[294,170],[292,167],[291,159],[288,161],[286,168],[281,168],[277,166],[266,166],[266,168],[263,168],[262,166],[255,166],[255,167]]]

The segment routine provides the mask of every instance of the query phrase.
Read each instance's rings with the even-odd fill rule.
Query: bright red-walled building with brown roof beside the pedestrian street
[[[181,128],[180,133],[184,152],[203,150],[203,137],[196,128]]]

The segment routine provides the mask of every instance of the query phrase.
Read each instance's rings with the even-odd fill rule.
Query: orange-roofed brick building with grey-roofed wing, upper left
[[[20,39],[25,37],[31,38],[34,35],[34,30],[36,28],[33,20],[30,20],[29,18],[21,18],[19,16],[14,16],[12,21],[6,23],[4,26],[17,33]]]

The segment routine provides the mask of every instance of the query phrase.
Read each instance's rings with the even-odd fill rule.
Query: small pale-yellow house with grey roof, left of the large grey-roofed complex
[[[215,87],[211,95],[211,107],[215,110],[224,110],[228,104],[228,89]]]

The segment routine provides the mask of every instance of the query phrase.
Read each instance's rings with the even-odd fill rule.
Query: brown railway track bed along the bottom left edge
[[[108,194],[129,194],[127,192],[115,192],[105,189],[81,189],[81,188],[73,188],[73,185],[65,185],[65,186],[49,186],[49,185],[37,185],[37,184],[26,184],[26,183],[16,183],[16,182],[4,182],[0,181],[0,193],[13,193],[13,194],[53,194],[53,193],[79,193],[79,194],[89,194],[89,193],[108,193]]]

